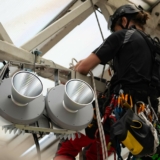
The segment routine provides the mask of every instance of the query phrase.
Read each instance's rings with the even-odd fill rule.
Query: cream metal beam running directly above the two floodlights
[[[20,64],[23,64],[24,68],[33,69],[34,67],[35,57],[33,54],[5,41],[0,41],[0,57],[2,60],[10,61],[11,65],[13,66],[20,66]],[[53,61],[44,59],[40,56],[37,58],[36,72],[40,76],[54,80],[55,69],[60,70],[59,80],[63,84],[65,84],[71,78],[76,78],[74,71],[67,69],[59,64],[55,64]],[[80,75],[84,81],[90,83],[89,77],[83,76],[79,73],[77,73],[77,75]]]

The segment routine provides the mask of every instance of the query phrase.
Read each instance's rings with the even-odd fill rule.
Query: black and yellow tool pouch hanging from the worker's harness
[[[113,147],[122,143],[135,157],[151,155],[154,152],[154,136],[150,127],[128,109],[124,116],[111,127],[110,139]]]

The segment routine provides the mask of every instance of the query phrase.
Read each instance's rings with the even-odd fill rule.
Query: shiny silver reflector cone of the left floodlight
[[[12,101],[18,106],[26,106],[38,98],[43,91],[41,80],[31,72],[20,71],[13,75],[11,89]]]

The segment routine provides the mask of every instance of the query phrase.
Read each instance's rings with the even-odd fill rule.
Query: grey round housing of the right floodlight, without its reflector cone
[[[90,104],[76,113],[63,106],[64,85],[52,88],[46,97],[46,110],[50,119],[58,126],[70,130],[82,130],[92,121],[93,106]]]

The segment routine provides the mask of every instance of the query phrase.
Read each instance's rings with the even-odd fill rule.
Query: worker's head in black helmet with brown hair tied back
[[[108,28],[114,32],[135,25],[144,30],[144,25],[148,18],[149,14],[143,11],[141,7],[127,4],[119,7],[115,13],[110,16]]]

